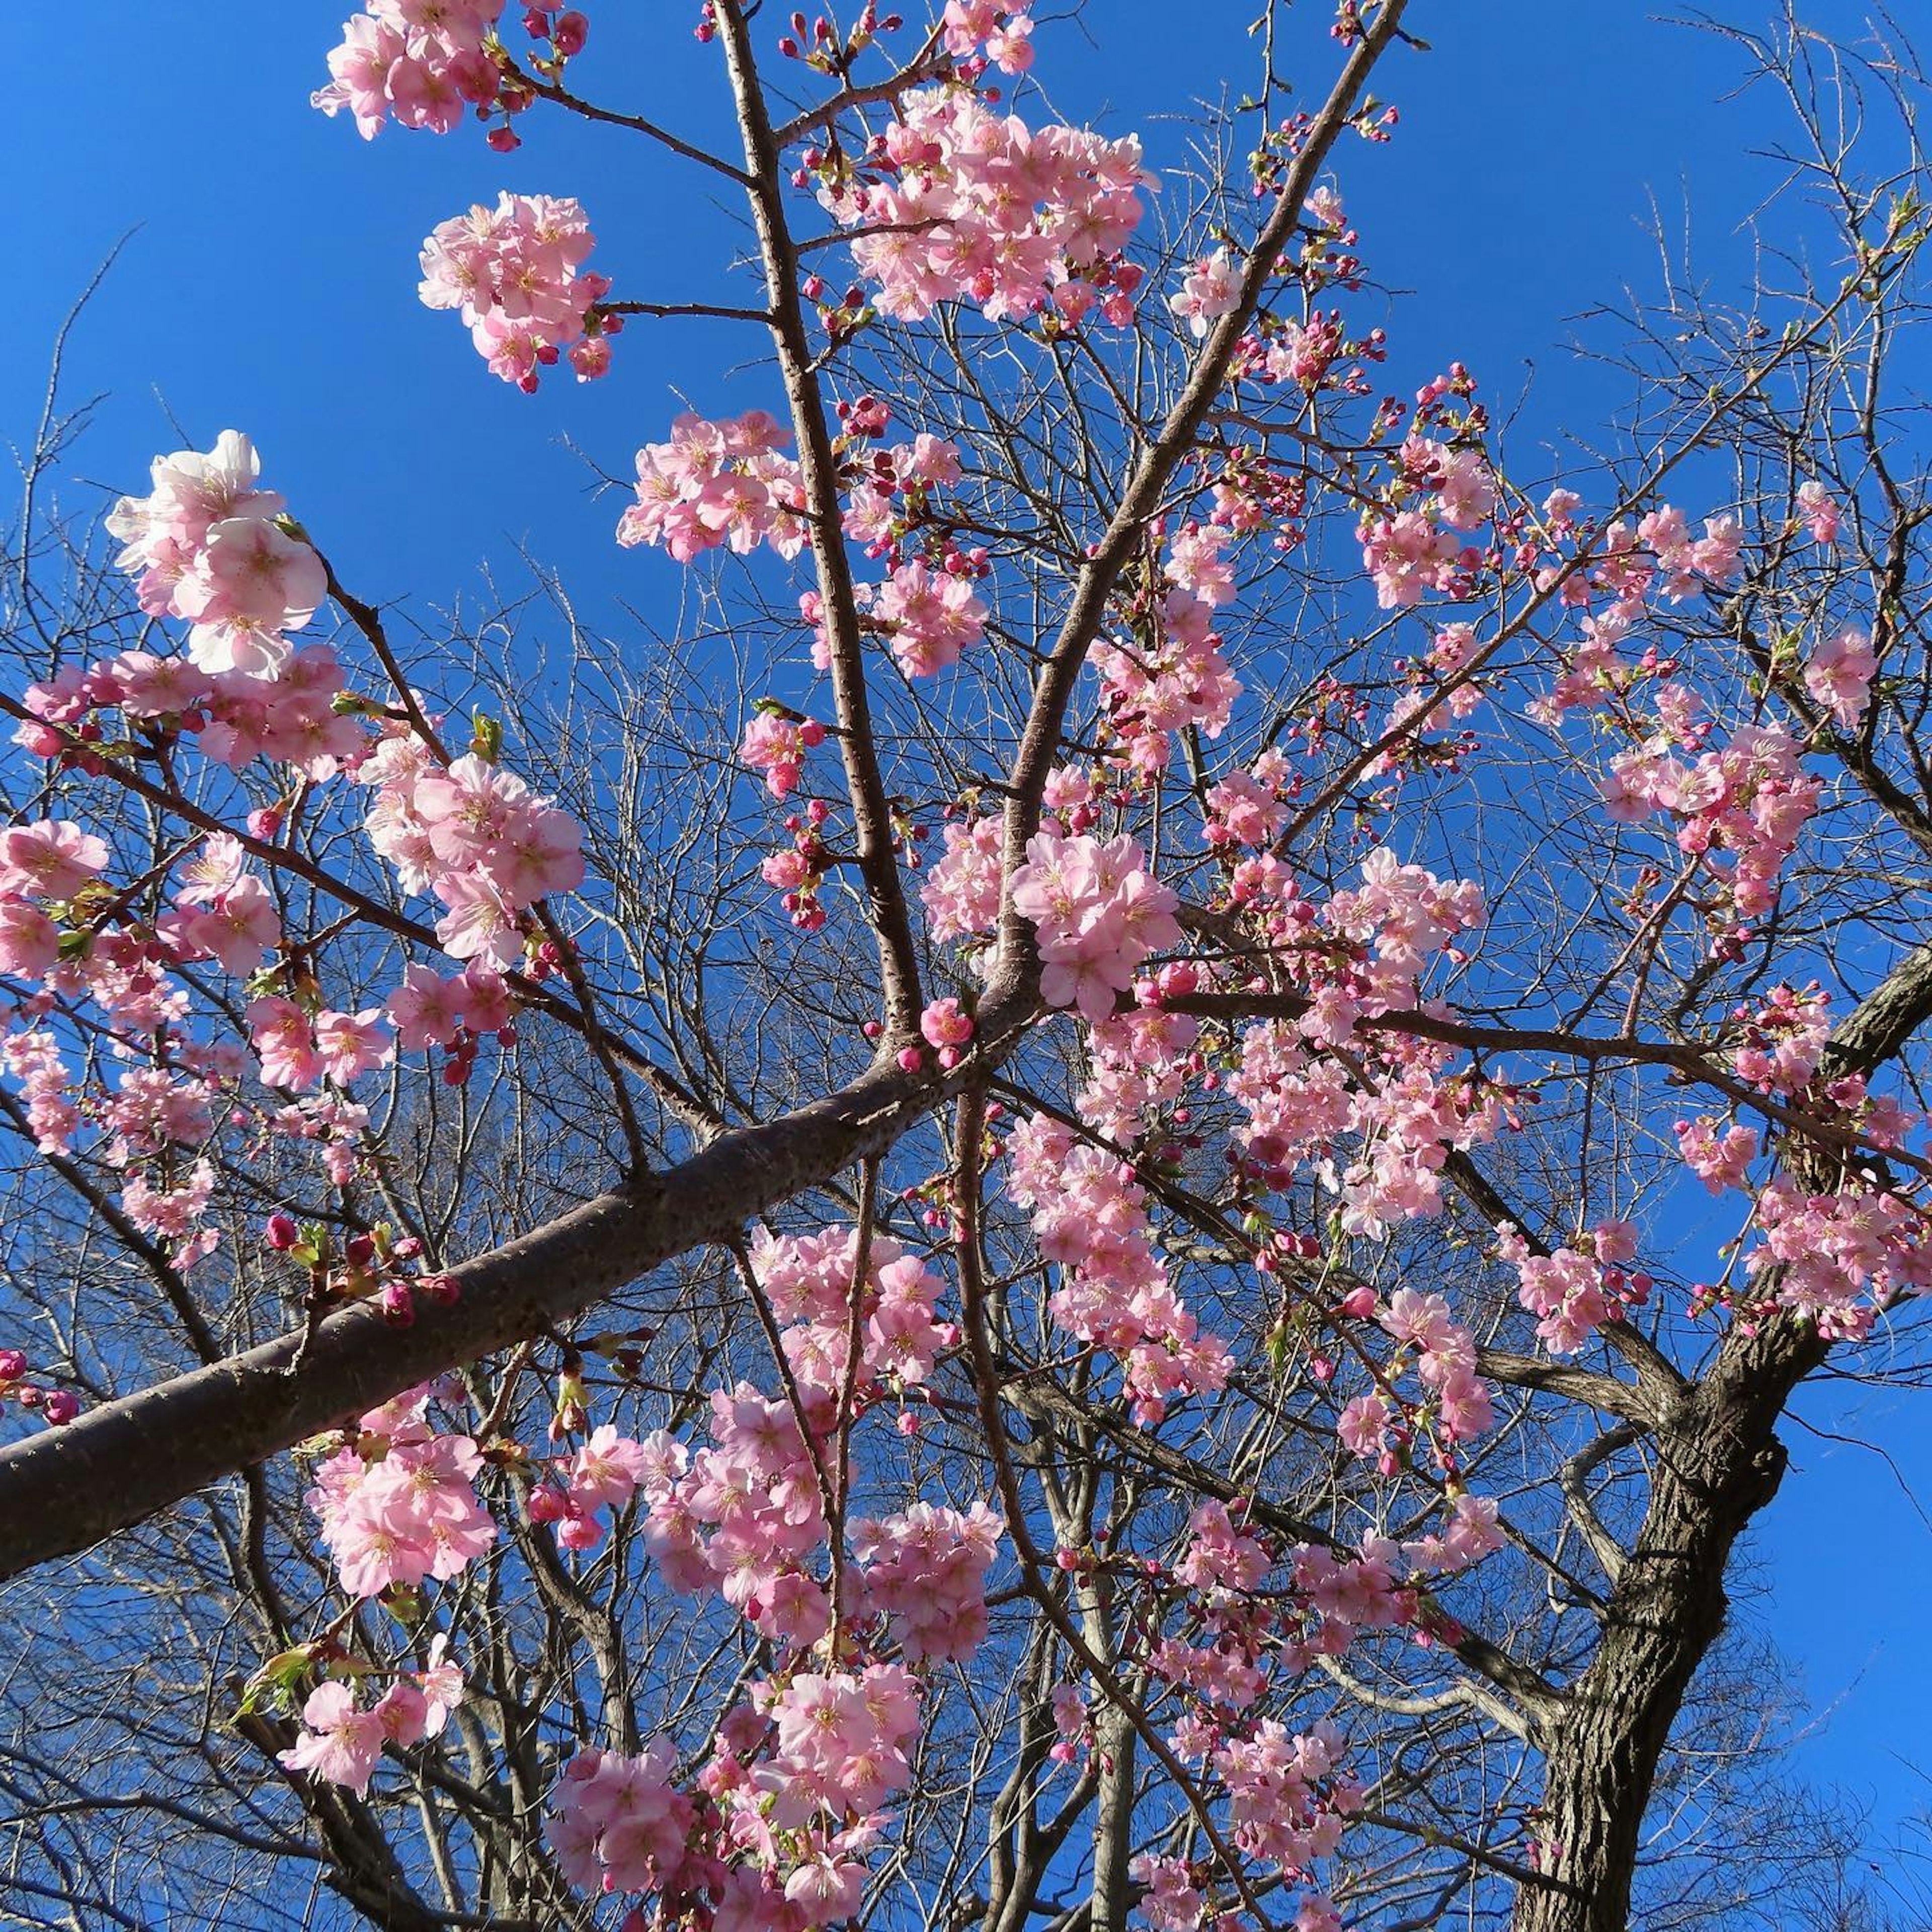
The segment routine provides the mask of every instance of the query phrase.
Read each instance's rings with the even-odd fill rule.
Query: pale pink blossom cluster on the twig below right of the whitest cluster
[[[527,910],[583,883],[578,821],[473,752],[440,765],[421,738],[392,728],[355,777],[375,792],[369,842],[406,893],[442,900],[437,937],[450,958],[514,966]]]

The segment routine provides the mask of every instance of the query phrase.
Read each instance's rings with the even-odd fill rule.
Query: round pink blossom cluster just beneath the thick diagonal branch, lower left
[[[365,1414],[303,1497],[350,1596],[460,1577],[497,1540],[477,1503],[477,1445],[439,1435],[427,1408],[429,1389],[412,1389]]]

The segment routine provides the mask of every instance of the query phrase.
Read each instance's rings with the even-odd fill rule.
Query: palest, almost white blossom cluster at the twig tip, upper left
[[[224,429],[207,454],[156,456],[147,497],[122,497],[108,531],[116,562],[139,570],[141,609],[185,618],[187,653],[207,672],[272,678],[328,595],[323,560],[284,529],[284,502],[255,487],[261,458]]]

